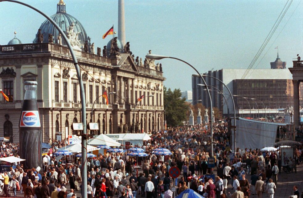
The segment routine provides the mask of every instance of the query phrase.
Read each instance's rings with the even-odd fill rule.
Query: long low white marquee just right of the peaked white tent
[[[142,146],[143,141],[151,139],[146,133],[107,134],[106,136],[117,140],[122,145],[133,144]]]

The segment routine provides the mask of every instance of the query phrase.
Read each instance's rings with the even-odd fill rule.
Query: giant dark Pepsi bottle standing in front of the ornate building
[[[37,82],[25,81],[25,95],[19,121],[20,158],[25,168],[41,167],[42,131],[37,103]]]

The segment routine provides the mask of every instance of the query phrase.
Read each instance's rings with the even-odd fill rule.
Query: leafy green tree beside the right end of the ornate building
[[[185,103],[185,98],[177,99],[181,97],[180,89],[167,89],[163,87],[163,100],[164,100],[164,110],[166,114],[166,124],[167,126],[179,126],[182,122],[186,120],[186,110],[187,105]]]

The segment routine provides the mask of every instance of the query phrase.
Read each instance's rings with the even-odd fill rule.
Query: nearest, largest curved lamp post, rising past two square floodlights
[[[4,2],[4,1],[18,3],[18,4],[21,4],[23,6],[27,6],[31,9],[37,11],[38,13],[42,14],[47,20],[49,20],[56,27],[56,29],[60,32],[60,34],[62,35],[69,51],[71,52],[71,56],[72,56],[72,59],[74,61],[74,65],[75,65],[76,72],[77,72],[77,77],[78,77],[78,80],[79,80],[83,133],[86,134],[87,133],[87,130],[86,130],[86,103],[85,103],[85,93],[84,93],[83,81],[82,81],[82,78],[81,78],[80,67],[78,65],[76,55],[75,55],[74,50],[72,48],[72,45],[69,43],[68,38],[66,37],[65,33],[63,32],[63,30],[58,26],[58,24],[53,19],[48,17],[46,14],[44,14],[42,11],[38,10],[37,8],[32,7],[32,6],[30,6],[26,3],[15,1],[15,0],[0,0],[0,2]],[[81,144],[82,144],[82,146],[81,146],[82,156],[86,156],[87,140],[86,140],[85,135],[82,136]],[[87,161],[86,161],[86,158],[81,158],[81,164],[82,164],[82,178],[83,178],[82,179],[82,186],[87,186]],[[87,188],[82,188],[81,194],[82,194],[82,197],[86,198],[87,197]]]

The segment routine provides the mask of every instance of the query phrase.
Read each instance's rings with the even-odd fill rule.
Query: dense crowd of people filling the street
[[[226,122],[213,124],[216,172],[215,178],[207,177],[213,173],[207,164],[211,155],[209,128],[208,125],[180,126],[150,132],[151,139],[140,146],[148,154],[146,157],[130,157],[125,151],[87,158],[88,186],[85,187],[81,185],[81,160],[75,156],[44,155],[41,170],[36,167],[25,170],[22,164],[10,164],[14,168],[1,174],[0,193],[3,191],[6,197],[10,193],[16,196],[20,191],[30,198],[70,198],[76,197],[81,188],[87,188],[89,198],[164,198],[164,192],[174,186],[168,170],[176,166],[182,172],[176,195],[190,188],[207,198],[244,198],[251,194],[262,197],[263,192],[273,197],[281,171],[279,155],[256,148],[237,148],[230,158],[231,151],[226,149],[231,147]],[[50,140],[48,144],[56,151],[67,142]],[[160,147],[169,149],[172,155],[154,155],[153,150]],[[18,144],[3,143],[0,149],[1,157],[18,157]],[[302,163],[302,147],[297,148],[295,156],[290,160]],[[139,173],[137,167],[140,167]],[[291,172],[292,167],[284,170]],[[246,179],[247,175],[251,175],[251,181]],[[227,190],[228,184],[232,189]]]

